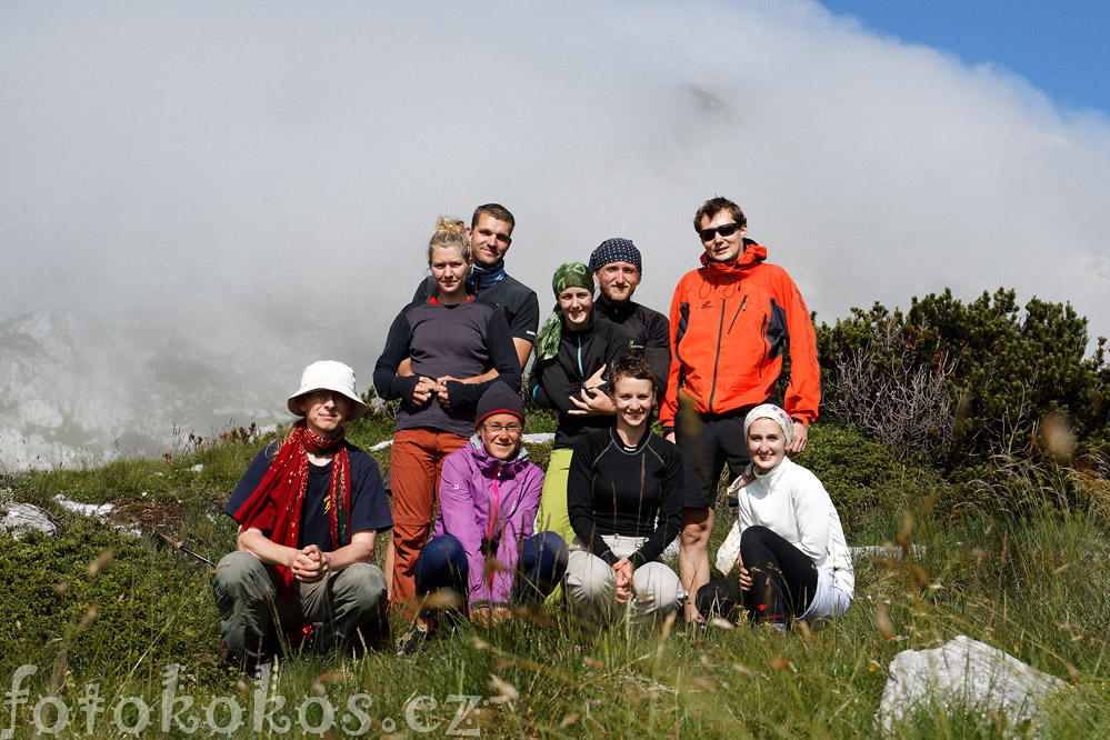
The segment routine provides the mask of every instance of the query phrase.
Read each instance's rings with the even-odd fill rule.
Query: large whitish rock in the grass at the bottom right
[[[1010,727],[1037,714],[1037,702],[1068,684],[962,634],[934,650],[903,650],[890,663],[876,724],[883,736],[918,710],[941,706],[998,712]],[[934,702],[934,703],[932,703]]]

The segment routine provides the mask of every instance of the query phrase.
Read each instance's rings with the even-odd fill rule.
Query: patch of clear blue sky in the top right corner
[[[997,62],[1063,108],[1110,111],[1110,4],[1042,0],[821,0],[836,14],[903,41]]]

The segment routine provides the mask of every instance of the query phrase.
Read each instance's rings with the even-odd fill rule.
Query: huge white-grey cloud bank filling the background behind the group
[[[544,306],[630,237],[666,310],[724,194],[819,319],[1006,286],[1110,334],[1106,113],[814,2],[28,2],[0,29],[0,317],[297,337],[256,371],[369,380],[438,214],[508,206]]]

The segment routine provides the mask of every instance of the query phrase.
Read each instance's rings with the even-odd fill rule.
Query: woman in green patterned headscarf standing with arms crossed
[[[628,351],[608,321],[593,313],[593,276],[581,262],[559,266],[551,279],[558,303],[536,338],[528,392],[537,404],[559,411],[554,448],[543,479],[536,531],[574,538],[567,514],[567,471],[574,442],[614,423],[606,370]]]

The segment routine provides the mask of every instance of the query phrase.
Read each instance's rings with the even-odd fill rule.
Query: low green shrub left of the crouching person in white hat
[[[198,648],[220,654],[203,563],[88,518],[63,520],[54,537],[0,537],[0,674],[28,662],[126,674],[196,660]]]

